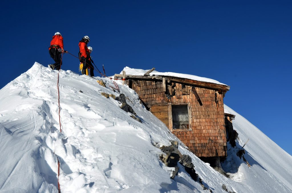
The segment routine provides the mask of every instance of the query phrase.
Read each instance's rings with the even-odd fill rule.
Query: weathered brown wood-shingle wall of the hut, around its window
[[[169,127],[167,122],[167,103],[190,103],[192,113],[192,126],[190,129],[192,130],[177,132],[173,129],[173,134],[198,157],[226,156],[226,131],[222,92],[206,87],[168,83],[166,90],[171,92],[175,89],[175,95],[168,101],[166,92],[164,92],[163,82],[133,80],[130,83],[132,89],[137,92],[148,108],[156,104],[150,110],[167,127]],[[199,95],[202,106],[192,92],[193,87],[195,87]],[[157,106],[157,104],[162,106]]]

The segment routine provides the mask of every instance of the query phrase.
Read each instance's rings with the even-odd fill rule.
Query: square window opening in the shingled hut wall
[[[173,129],[189,129],[189,112],[187,105],[172,105]]]

